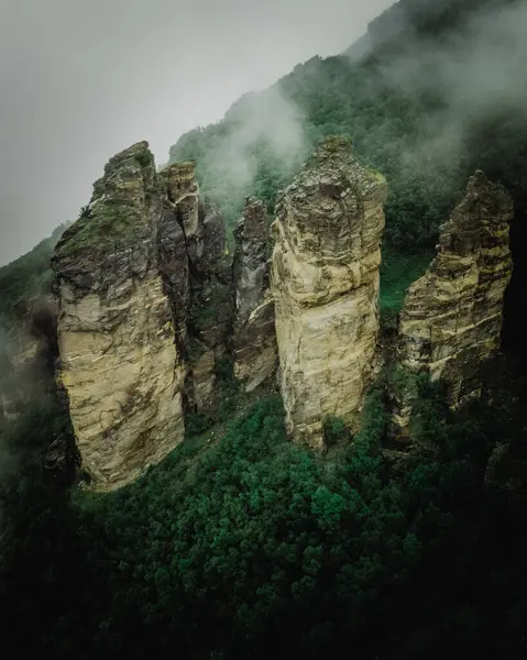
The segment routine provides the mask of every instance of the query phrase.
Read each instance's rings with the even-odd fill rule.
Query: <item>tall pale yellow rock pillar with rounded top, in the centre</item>
[[[375,362],[384,178],[328,139],[277,205],[272,290],[288,430],[322,447],[322,420],[356,429]]]

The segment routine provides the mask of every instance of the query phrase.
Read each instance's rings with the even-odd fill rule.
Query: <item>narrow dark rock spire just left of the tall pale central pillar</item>
[[[234,238],[234,377],[251,392],[276,371],[278,361],[270,292],[270,232],[263,201],[246,200]]]

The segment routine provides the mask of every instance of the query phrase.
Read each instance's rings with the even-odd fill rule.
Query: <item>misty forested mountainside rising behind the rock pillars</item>
[[[525,79],[525,13],[521,2],[507,0],[403,0],[370,25],[359,61],[344,53],[298,65],[239,99],[222,121],[183,135],[171,161],[196,161],[202,193],[232,227],[245,194],[265,199],[272,212],[314,144],[350,135],[355,153],[389,182],[382,305],[394,310],[420,271],[418,255],[433,249],[439,224],[480,167],[515,198],[519,252],[510,296],[519,306],[527,120],[516,76]],[[512,44],[519,53],[510,59]],[[510,334],[514,326],[512,319]]]

